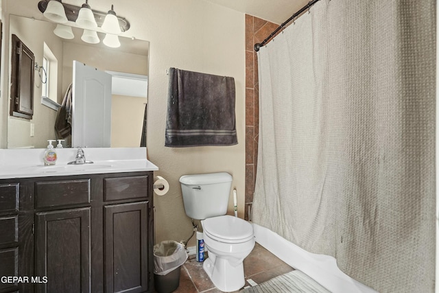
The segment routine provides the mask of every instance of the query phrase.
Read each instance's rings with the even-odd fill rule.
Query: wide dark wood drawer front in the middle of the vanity
[[[90,202],[90,179],[35,183],[35,207],[56,207]]]

